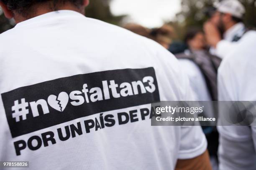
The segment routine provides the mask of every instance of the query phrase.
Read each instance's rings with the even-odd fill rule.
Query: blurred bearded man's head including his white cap
[[[227,31],[236,23],[243,22],[245,7],[238,0],[222,0],[215,5],[216,12],[210,18],[221,32]]]

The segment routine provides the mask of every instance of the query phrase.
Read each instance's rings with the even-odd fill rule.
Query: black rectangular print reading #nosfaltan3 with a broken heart
[[[144,77],[147,78],[143,82]],[[149,80],[148,77],[153,77],[154,83],[152,83],[152,80]],[[147,90],[141,89],[141,86],[138,85],[137,95],[135,95],[135,92],[133,91],[133,95],[128,95],[126,97],[123,97],[122,95],[120,95],[120,97],[115,96],[118,98],[113,97],[112,89],[108,88],[110,99],[104,100],[105,93],[103,90],[102,81],[107,81],[109,86],[110,80],[114,80],[115,84],[118,84],[118,86],[123,82],[128,82],[132,85],[132,82],[141,81],[144,87],[148,88],[146,88]],[[91,102],[90,93],[87,92],[89,98],[89,103],[87,103],[85,93],[82,93],[84,84],[87,84],[88,91],[90,91],[92,87],[100,87],[103,95],[103,100]],[[153,86],[155,87],[155,90],[153,89]],[[122,90],[122,88],[118,87],[117,93],[120,93],[120,90]],[[70,93],[73,91],[80,91],[82,93],[80,94],[84,97],[84,103],[82,105],[74,106],[71,104],[71,102],[79,102],[79,100],[71,100]],[[63,92],[64,94],[60,95],[61,92]],[[51,101],[49,100],[50,95]],[[53,95],[56,96],[56,101],[52,100],[52,98],[54,98]],[[69,95],[68,99],[67,95]],[[67,99],[68,102],[67,100],[62,100],[61,97],[60,100],[60,98],[58,98],[59,96]],[[5,107],[6,117],[10,127],[10,132],[13,138],[54,125],[58,125],[70,120],[74,120],[80,117],[160,101],[156,75],[153,67],[143,69],[109,70],[59,78],[56,80],[41,82],[35,85],[20,87],[10,92],[5,92],[2,94],[2,99]],[[19,104],[21,103],[22,99],[23,104],[25,103],[23,110],[18,109],[18,106],[20,106]],[[46,103],[46,106],[48,106],[49,113],[44,114],[41,105],[38,105],[38,107],[36,108],[38,109],[39,115],[35,117],[32,114],[31,102],[34,102],[35,104],[35,102],[37,102],[38,100],[41,100],[41,102],[45,100],[45,102],[43,102]],[[60,110],[57,110],[56,108],[54,109],[54,107],[52,107],[54,105],[54,102],[54,106],[58,106],[56,102],[60,103],[59,101],[61,101],[62,104],[64,103],[64,106],[67,103],[66,107],[63,107],[63,105],[61,105],[61,107],[59,107]],[[26,104],[26,102],[28,103]],[[52,105],[50,106],[49,103],[51,103]],[[13,107],[14,105],[16,106],[16,111]],[[23,115],[26,116],[24,120],[22,116],[15,115],[22,115],[20,111],[23,113]],[[15,117],[19,117],[20,120],[16,120]]]

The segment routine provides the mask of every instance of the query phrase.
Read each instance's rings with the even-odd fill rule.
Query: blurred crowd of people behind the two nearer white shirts
[[[182,42],[175,41],[177,35],[172,25],[149,29],[128,23],[124,28],[150,38],[172,52],[187,72],[197,101],[217,101],[218,68],[225,56],[234,50],[239,40],[250,30],[243,23],[245,7],[238,0],[215,3],[204,13],[208,17],[204,27],[188,28]],[[207,116],[210,117],[211,113]],[[218,170],[219,134],[216,127],[202,128],[207,137],[213,169]]]

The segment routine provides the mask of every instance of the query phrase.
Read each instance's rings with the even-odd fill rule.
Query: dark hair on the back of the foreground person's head
[[[27,16],[31,13],[31,7],[38,3],[51,2],[54,10],[57,10],[57,5],[59,3],[65,4],[66,2],[71,2],[76,7],[80,7],[83,0],[0,0],[2,1],[9,10],[15,11],[23,16]]]

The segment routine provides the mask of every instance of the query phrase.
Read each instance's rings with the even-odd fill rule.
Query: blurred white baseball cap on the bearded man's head
[[[243,18],[245,7],[238,0],[222,0],[214,5],[221,13],[230,13],[234,17]]]

